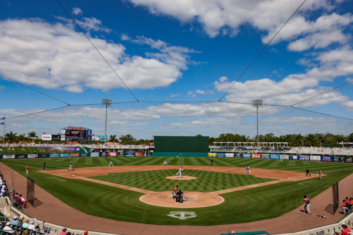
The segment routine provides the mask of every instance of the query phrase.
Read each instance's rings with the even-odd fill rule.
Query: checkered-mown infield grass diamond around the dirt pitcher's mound
[[[175,175],[175,170],[168,169],[159,171],[111,173],[108,175],[88,178],[142,188],[154,192],[171,191],[173,190],[173,185],[179,185],[179,189],[183,191],[213,192],[245,185],[260,184],[273,180],[258,178],[254,175],[198,170],[185,170],[182,174],[196,177],[197,179],[195,180],[172,180],[165,178],[166,176],[172,175]]]

